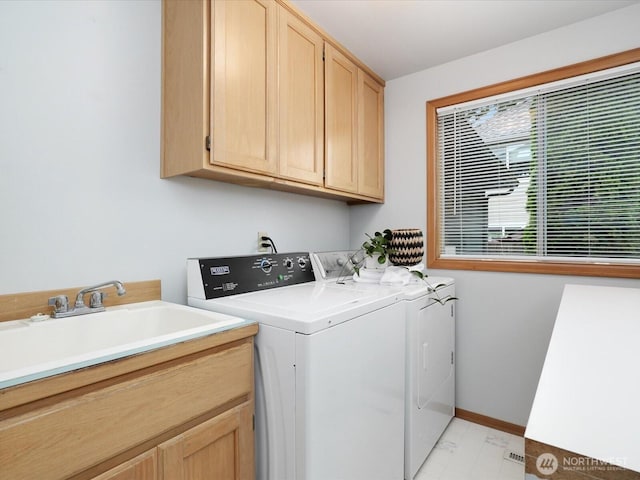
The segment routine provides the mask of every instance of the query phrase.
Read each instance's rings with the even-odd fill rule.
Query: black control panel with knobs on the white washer
[[[308,252],[201,258],[207,300],[315,280]]]

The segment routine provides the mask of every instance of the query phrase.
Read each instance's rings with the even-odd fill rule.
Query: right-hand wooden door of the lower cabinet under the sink
[[[158,447],[164,480],[254,477],[253,404],[245,403]]]

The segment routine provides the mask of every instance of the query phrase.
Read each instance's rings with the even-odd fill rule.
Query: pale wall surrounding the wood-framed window
[[[427,100],[640,47],[639,24],[640,5],[634,5],[387,82],[387,201],[352,208],[351,246],[363,232],[385,227],[426,231]],[[457,280],[457,406],[519,425],[529,416],[563,285],[640,286],[557,275],[431,274]]]

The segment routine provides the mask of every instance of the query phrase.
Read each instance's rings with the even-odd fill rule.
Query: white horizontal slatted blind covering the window
[[[442,258],[640,262],[640,71],[438,109]]]

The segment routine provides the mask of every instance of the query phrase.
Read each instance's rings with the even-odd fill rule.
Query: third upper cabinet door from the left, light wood
[[[358,67],[325,44],[325,186],[353,193],[358,190],[357,85]]]

